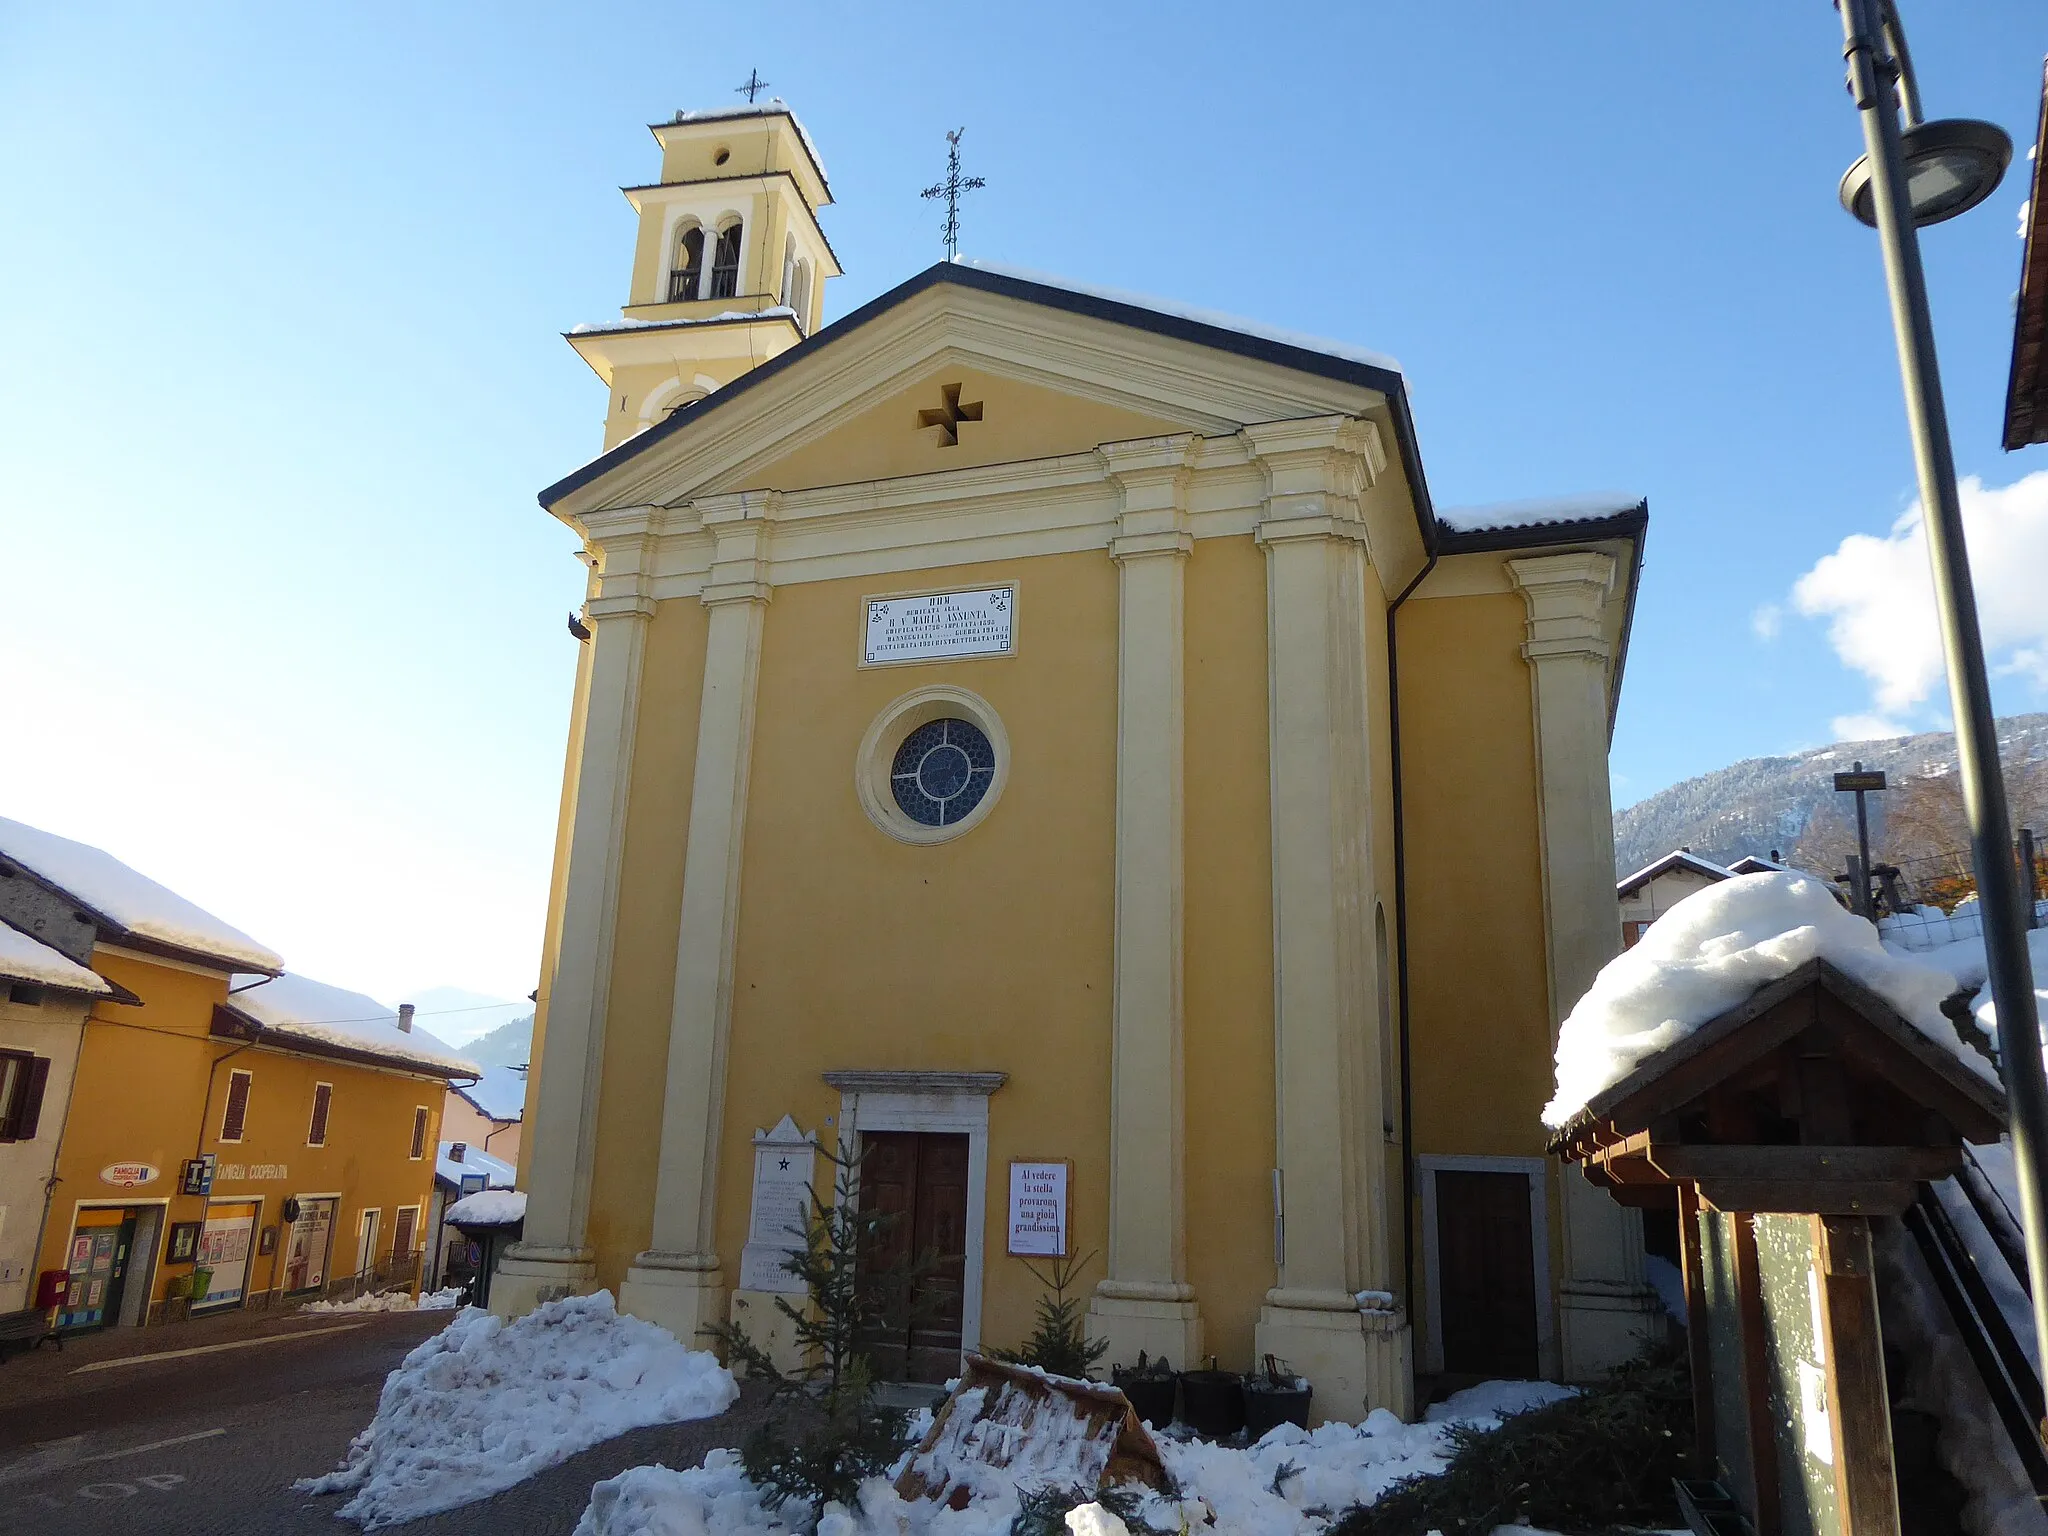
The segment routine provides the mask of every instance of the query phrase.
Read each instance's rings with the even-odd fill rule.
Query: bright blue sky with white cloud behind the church
[[[756,66],[831,172],[827,315],[940,254],[918,188],[965,123],[967,254],[1393,352],[1440,506],[1645,492],[1616,803],[1944,721],[1925,645],[1870,639],[1913,604],[1913,467],[1827,0],[854,14],[0,4],[0,688],[33,741],[0,813],[324,979],[530,989],[580,594],[532,498],[604,408],[559,332],[625,297],[645,125]],[[2048,14],[1907,20],[1929,109],[2025,145]],[[2048,471],[1997,446],[2023,197],[1925,242],[2021,594],[2001,709],[2048,707],[2048,477],[1989,494]]]

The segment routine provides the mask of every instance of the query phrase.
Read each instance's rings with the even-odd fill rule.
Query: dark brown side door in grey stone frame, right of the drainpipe
[[[1536,1249],[1524,1174],[1436,1174],[1444,1372],[1534,1378]]]

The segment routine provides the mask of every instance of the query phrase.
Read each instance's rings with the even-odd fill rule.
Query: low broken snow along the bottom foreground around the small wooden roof
[[[1386,1409],[1376,1409],[1356,1425],[1303,1430],[1282,1423],[1245,1450],[1200,1440],[1161,1440],[1159,1456],[1180,1495],[1151,1495],[1141,1516],[1159,1530],[1319,1536],[1337,1513],[1370,1503],[1401,1479],[1442,1473],[1454,1425],[1495,1427],[1509,1413],[1561,1397],[1571,1397],[1571,1389],[1550,1382],[1485,1382],[1430,1409],[1423,1423],[1401,1423]],[[965,1411],[965,1401],[954,1407],[956,1415]],[[872,1479],[860,1493],[858,1509],[825,1507],[817,1536],[1008,1536],[1018,1511],[1018,1481],[1071,1487],[1087,1477],[1083,1462],[1092,1456],[1090,1442],[1073,1434],[1067,1436],[1065,1450],[1065,1460],[1032,1452],[1030,1477],[1018,1477],[1016,1464],[1006,1468],[1010,1477],[991,1477],[993,1468],[985,1462],[946,1458],[944,1466],[932,1470],[946,1473],[952,1485],[979,1479],[965,1509],[930,1499],[905,1501],[887,1481]],[[1096,1466],[1100,1475],[1100,1464]],[[1294,1470],[1280,1477],[1288,1466]],[[760,1491],[748,1483],[739,1456],[715,1450],[702,1466],[684,1473],[635,1466],[598,1483],[575,1536],[780,1536],[803,1532],[805,1516],[807,1509],[795,1503],[770,1511]]]

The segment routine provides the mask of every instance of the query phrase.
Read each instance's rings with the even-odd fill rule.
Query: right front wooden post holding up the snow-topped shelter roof
[[[1827,1374],[1835,1399],[1835,1485],[1845,1530],[1898,1536],[1898,1475],[1892,1413],[1884,1393],[1878,1280],[1868,1217],[1815,1217],[1821,1266]]]

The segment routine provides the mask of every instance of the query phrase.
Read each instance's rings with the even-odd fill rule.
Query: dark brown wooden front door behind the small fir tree
[[[891,1380],[950,1380],[961,1370],[967,1294],[967,1137],[864,1130],[860,1145],[860,1208],[895,1217],[872,1249],[874,1266],[938,1255],[938,1270],[918,1284],[934,1303],[872,1339],[874,1370]]]

